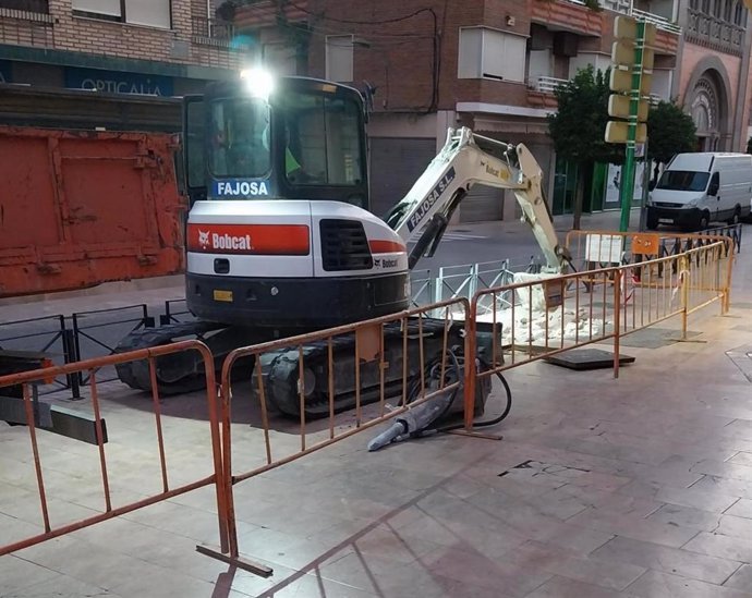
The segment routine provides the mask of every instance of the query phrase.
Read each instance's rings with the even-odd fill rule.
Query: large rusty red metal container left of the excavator
[[[184,269],[173,139],[0,126],[0,297]]]

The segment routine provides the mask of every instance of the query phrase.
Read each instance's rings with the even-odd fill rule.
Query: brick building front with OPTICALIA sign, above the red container
[[[207,0],[0,0],[0,83],[182,96],[250,47]]]

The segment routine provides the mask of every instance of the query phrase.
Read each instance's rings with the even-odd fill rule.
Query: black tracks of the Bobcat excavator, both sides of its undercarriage
[[[355,374],[356,339],[354,333],[333,337],[331,341],[323,340],[304,345],[302,347],[303,386],[305,387],[303,410],[306,418],[317,419],[329,415],[330,390],[333,391],[331,392],[333,413],[378,401],[381,396],[381,387],[384,387],[385,399],[399,401],[403,395],[405,375],[409,388],[420,382],[421,368],[430,361],[439,358],[445,349],[452,350],[458,355],[462,354],[463,322],[450,324],[447,327],[444,320],[424,318],[419,324],[419,318],[411,318],[407,327],[407,373],[403,370],[405,333],[399,321],[384,325],[384,358],[361,359],[357,375]],[[445,327],[447,329],[446,345]],[[215,356],[214,366],[217,375],[230,351],[269,340],[267,333],[263,331],[196,321],[134,331],[123,339],[117,352],[169,344],[184,338],[196,338],[209,346]],[[331,389],[330,352],[333,365]],[[291,345],[258,357],[269,406],[284,416],[295,418],[299,418],[301,414],[300,354],[300,347]],[[383,368],[381,364],[384,364]],[[204,363],[195,352],[157,357],[155,366],[160,394],[194,392],[206,386]],[[247,358],[245,362],[236,362],[235,366],[236,375],[232,377],[234,382],[248,380],[247,373],[254,371],[253,363],[248,364]],[[384,369],[384,380],[381,380],[381,369]],[[117,370],[120,380],[131,388],[145,392],[151,391],[148,361],[118,364]],[[256,383],[252,389],[257,396]],[[485,394],[487,395],[487,392]]]

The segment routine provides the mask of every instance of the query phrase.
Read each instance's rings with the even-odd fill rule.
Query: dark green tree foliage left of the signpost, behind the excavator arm
[[[579,164],[621,163],[623,146],[604,139],[608,122],[608,75],[592,64],[555,90],[558,110],[548,117],[548,135],[557,155]]]

